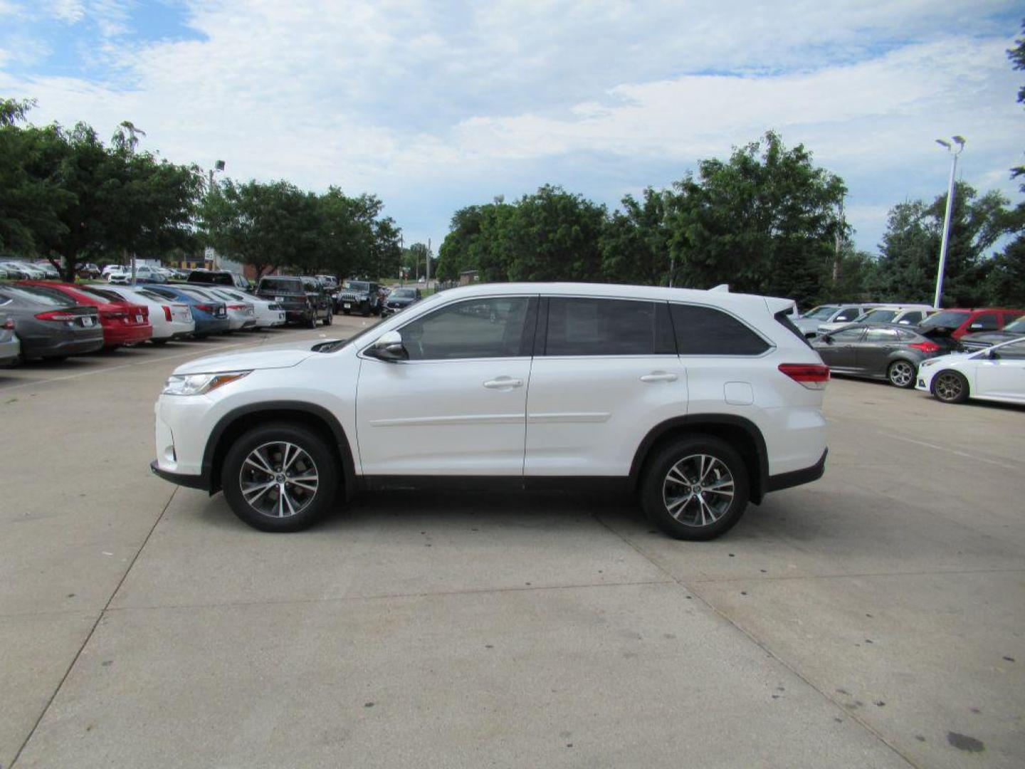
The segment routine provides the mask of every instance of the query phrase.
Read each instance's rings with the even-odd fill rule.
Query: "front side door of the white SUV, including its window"
[[[522,475],[536,306],[528,296],[452,302],[399,329],[409,360],[361,353],[363,474]]]

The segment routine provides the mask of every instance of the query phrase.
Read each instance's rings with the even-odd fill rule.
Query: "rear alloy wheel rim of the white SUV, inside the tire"
[[[662,482],[662,502],[686,526],[710,526],[726,515],[735,492],[730,469],[710,454],[692,454],[678,461]]]

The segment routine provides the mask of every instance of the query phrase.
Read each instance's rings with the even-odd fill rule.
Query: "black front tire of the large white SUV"
[[[282,461],[283,456],[279,450],[269,447],[283,444],[290,444],[302,452],[298,458],[293,455],[292,467],[298,468],[294,472],[304,475],[294,476],[293,472],[293,477],[317,477],[312,494],[301,487],[292,486],[285,499],[282,499],[280,486],[276,482],[285,477],[284,466],[274,462]],[[247,458],[257,450],[264,458],[264,463],[271,462],[269,467],[277,475],[254,470],[255,466],[246,463]],[[278,468],[282,468],[282,472],[278,472]],[[224,456],[220,477],[224,498],[232,512],[242,521],[260,531],[288,532],[301,531],[331,510],[338,492],[340,469],[324,439],[310,429],[293,422],[269,422],[253,428],[232,444]],[[253,484],[252,488],[247,489],[247,493],[255,500],[255,504],[246,499],[243,483]],[[270,488],[260,494],[258,491],[262,484],[270,484]],[[254,490],[257,493],[254,494]],[[288,514],[287,505],[293,502],[301,507],[293,514]],[[272,515],[277,510],[286,514]]]

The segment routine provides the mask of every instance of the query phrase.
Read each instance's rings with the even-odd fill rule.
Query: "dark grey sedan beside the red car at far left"
[[[96,308],[76,305],[51,288],[6,284],[0,286],[0,303],[14,321],[25,360],[63,360],[104,348]]]

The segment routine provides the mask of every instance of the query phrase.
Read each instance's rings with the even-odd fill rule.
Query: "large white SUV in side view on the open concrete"
[[[364,489],[583,483],[709,539],[821,477],[829,370],[793,302],[641,286],[435,294],[350,339],[179,366],[153,471],[295,531]]]

